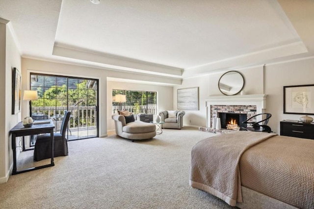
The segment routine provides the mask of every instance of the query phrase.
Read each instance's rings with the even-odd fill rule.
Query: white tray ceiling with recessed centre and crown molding
[[[187,78],[314,55],[313,0],[0,0],[23,57]]]

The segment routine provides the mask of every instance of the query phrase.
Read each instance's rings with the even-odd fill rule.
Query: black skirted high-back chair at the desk
[[[65,111],[61,124],[60,133],[54,133],[53,144],[53,157],[67,156],[68,155],[68,143],[66,139],[66,130],[69,123],[71,112]],[[42,159],[51,158],[51,142],[50,133],[38,135],[34,149],[34,160],[39,161]]]

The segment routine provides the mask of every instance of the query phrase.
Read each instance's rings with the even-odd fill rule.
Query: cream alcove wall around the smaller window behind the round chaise
[[[108,130],[114,130],[112,115],[112,89],[135,90],[135,91],[156,91],[157,92],[157,112],[173,109],[173,87],[137,84],[130,82],[107,81],[107,124]]]

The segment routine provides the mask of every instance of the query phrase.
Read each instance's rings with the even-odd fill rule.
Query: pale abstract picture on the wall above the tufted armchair
[[[177,90],[178,109],[199,110],[199,87],[183,88]]]

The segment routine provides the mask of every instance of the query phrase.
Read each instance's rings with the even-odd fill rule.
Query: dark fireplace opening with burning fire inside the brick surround
[[[219,112],[218,117],[220,117],[222,129],[240,130],[240,127],[246,128],[246,124],[242,124],[242,122],[246,121],[247,114]]]

